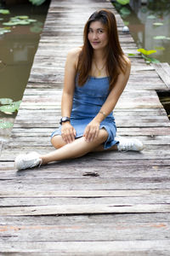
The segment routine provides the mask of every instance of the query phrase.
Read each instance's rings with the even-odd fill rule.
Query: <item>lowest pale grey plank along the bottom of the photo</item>
[[[88,250],[87,250],[88,248]],[[161,253],[161,250],[166,248],[170,252],[170,241],[46,241],[46,242],[11,242],[0,243],[1,252],[55,252],[55,253],[74,253],[75,256],[85,255],[105,255],[105,253],[152,253],[154,248],[155,253]],[[81,254],[82,253],[82,254]],[[94,254],[93,254],[94,253]],[[61,254],[56,254],[61,255]],[[65,255],[65,254],[63,254]],[[71,255],[71,254],[70,254]],[[87,255],[87,254],[86,254]],[[161,254],[157,254],[161,255]]]

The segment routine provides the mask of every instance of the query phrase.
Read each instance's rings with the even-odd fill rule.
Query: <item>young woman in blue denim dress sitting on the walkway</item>
[[[101,9],[84,27],[84,44],[71,49],[65,62],[65,83],[59,129],[51,136],[51,153],[20,154],[18,170],[52,161],[81,157],[88,152],[143,149],[134,138],[116,137],[113,109],[124,90],[130,61],[122,52],[111,11]]]

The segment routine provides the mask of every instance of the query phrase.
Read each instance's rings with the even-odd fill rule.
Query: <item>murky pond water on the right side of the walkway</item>
[[[145,3],[145,4],[142,4]],[[150,55],[161,62],[170,64],[170,1],[169,0],[130,0],[126,5],[129,15],[122,19],[139,48],[156,49]],[[118,11],[120,11],[118,6]],[[156,39],[157,36],[165,38]]]

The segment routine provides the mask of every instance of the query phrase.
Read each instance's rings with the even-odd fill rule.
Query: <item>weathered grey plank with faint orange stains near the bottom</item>
[[[101,220],[94,223],[83,220],[81,223],[75,217],[71,223],[68,223],[67,220],[65,224],[60,224],[59,219],[57,219],[56,224],[48,225],[41,225],[39,221],[38,224],[36,221],[31,225],[0,225],[0,234],[2,239],[8,243],[14,241],[44,242],[47,241],[46,237],[50,238],[50,241],[133,241],[134,237],[136,240],[143,241],[170,239],[170,223],[165,219],[163,222],[155,222],[154,219],[148,222],[144,219],[144,221],[139,222],[133,221],[131,224],[125,221],[116,221],[116,218],[113,217],[107,218],[107,223],[102,223]],[[105,230],[109,231],[105,232]]]

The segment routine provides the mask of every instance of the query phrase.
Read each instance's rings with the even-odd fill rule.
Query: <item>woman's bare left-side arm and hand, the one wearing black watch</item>
[[[80,48],[71,49],[65,61],[64,89],[61,99],[62,116],[71,117],[72,100],[75,90],[75,77],[77,74],[77,61],[80,50]],[[71,143],[74,141],[76,131],[69,121],[62,123],[61,136],[65,143]]]

